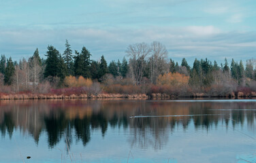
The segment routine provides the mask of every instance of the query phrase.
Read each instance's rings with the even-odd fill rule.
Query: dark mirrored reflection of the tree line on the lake
[[[38,143],[45,132],[48,147],[63,138],[69,145],[81,141],[86,146],[92,132],[106,136],[109,128],[129,130],[131,147],[161,149],[176,128],[212,130],[219,126],[255,128],[256,103],[176,103],[170,101],[1,101],[1,136],[14,130],[28,132]],[[134,115],[148,117],[130,118]],[[152,115],[189,115],[154,117]],[[195,115],[195,116],[193,116]],[[171,132],[171,133],[170,133]],[[75,134],[72,134],[75,133]]]

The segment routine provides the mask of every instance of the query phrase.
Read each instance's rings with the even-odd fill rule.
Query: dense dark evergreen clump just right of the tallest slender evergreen
[[[91,67],[91,53],[85,47],[82,48],[81,53],[76,51],[75,61],[74,61],[74,71],[76,76],[82,75],[85,78],[91,77],[90,67]]]

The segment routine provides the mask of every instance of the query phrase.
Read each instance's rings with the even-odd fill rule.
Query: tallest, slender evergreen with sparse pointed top
[[[72,50],[70,48],[70,44],[67,41],[67,39],[66,39],[65,47],[66,49],[63,52],[63,60],[67,67],[67,75],[74,75],[74,62],[73,62]]]

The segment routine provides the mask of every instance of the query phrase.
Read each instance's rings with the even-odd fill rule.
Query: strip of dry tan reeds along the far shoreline
[[[256,92],[251,93],[243,93],[237,92],[236,94],[232,92],[231,94],[227,94],[225,96],[209,96],[204,93],[196,93],[191,96],[173,96],[168,94],[71,94],[71,95],[57,95],[57,94],[32,94],[32,93],[18,93],[18,94],[0,94],[0,101],[7,100],[51,100],[51,99],[59,99],[59,100],[69,100],[69,99],[135,99],[135,100],[147,100],[147,99],[178,99],[178,98],[255,98]]]

